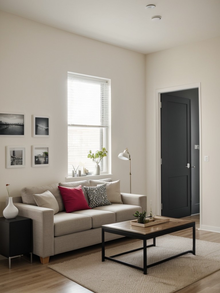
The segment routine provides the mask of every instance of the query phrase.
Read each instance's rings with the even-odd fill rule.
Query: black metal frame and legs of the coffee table
[[[185,230],[185,229],[188,229],[188,228],[192,228],[192,250],[184,251],[182,253],[179,253],[177,255],[171,256],[169,258],[165,258],[163,260],[160,260],[160,261],[158,261],[156,263],[151,263],[150,265],[147,265],[147,247],[156,246],[156,237],[163,236],[163,235],[166,235],[166,234],[170,234],[172,232]],[[121,263],[123,265],[127,265],[128,267],[141,270],[141,271],[143,271],[144,275],[147,275],[147,269],[151,268],[151,267],[153,267],[155,265],[159,265],[160,263],[164,263],[164,262],[166,262],[168,260],[177,258],[177,257],[179,257],[181,255],[185,255],[187,253],[192,253],[192,254],[195,255],[195,243],[196,243],[196,232],[195,231],[196,231],[195,230],[195,222],[182,224],[180,226],[167,228],[167,229],[164,229],[164,230],[161,230],[161,231],[155,231],[155,232],[152,232],[152,233],[146,234],[146,235],[136,233],[136,232],[132,232],[132,231],[125,231],[125,230],[121,230],[121,229],[116,229],[114,227],[102,226],[102,230],[101,230],[101,237],[102,237],[101,261],[111,260],[111,261],[114,261],[116,263]],[[133,249],[133,250],[130,250],[130,251],[126,251],[126,252],[123,252],[123,253],[119,253],[119,254],[116,254],[116,255],[112,255],[110,257],[105,256],[105,236],[104,236],[105,232],[143,240],[143,247]],[[147,245],[147,240],[149,240],[149,239],[153,239],[153,244]],[[131,252],[138,251],[138,250],[142,250],[142,249],[143,249],[143,268],[138,267],[136,265],[129,264],[129,263],[124,263],[121,260],[114,259],[117,256],[124,255],[124,254],[131,253]]]

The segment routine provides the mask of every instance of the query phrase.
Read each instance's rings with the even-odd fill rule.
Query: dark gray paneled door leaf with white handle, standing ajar
[[[161,94],[161,214],[191,214],[190,100]]]

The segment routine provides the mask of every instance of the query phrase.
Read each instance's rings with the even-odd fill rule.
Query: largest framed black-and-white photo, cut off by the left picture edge
[[[0,113],[0,136],[24,136],[24,114]]]

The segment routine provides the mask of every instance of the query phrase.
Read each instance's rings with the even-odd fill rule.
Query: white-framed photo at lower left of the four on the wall
[[[25,147],[6,147],[6,168],[22,168],[25,166]]]

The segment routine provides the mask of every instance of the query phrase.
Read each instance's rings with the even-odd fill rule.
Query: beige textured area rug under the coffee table
[[[153,243],[152,240],[148,244]],[[142,247],[143,241],[106,249],[106,256]],[[192,239],[165,235],[156,238],[156,247],[147,248],[147,263],[192,249]],[[143,267],[143,250],[118,259]],[[196,255],[188,253],[143,271],[101,261],[101,252],[64,263],[48,265],[65,277],[95,293],[172,293],[220,269],[220,243],[196,240]]]

